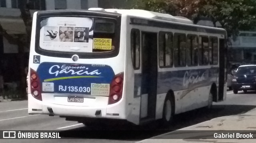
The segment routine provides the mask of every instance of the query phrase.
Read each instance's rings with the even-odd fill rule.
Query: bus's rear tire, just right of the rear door
[[[163,116],[161,120],[161,125],[170,125],[172,123],[174,116],[174,101],[170,94],[166,95],[163,107]]]

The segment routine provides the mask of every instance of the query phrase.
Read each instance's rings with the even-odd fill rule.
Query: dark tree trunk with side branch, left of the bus
[[[19,59],[19,66],[20,66],[20,94],[22,95],[21,98],[26,98],[26,74],[25,74],[25,67],[24,67],[24,59],[25,53],[24,48],[30,47],[30,37],[31,37],[31,29],[32,29],[32,18],[30,15],[30,4],[27,3],[27,0],[21,0],[19,8],[21,12],[21,18],[26,26],[26,33],[25,34],[17,34],[11,35],[9,34],[3,27],[0,25],[0,34],[5,37],[9,43],[18,45],[18,59]]]

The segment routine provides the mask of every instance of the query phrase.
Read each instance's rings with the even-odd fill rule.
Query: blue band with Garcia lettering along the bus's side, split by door
[[[218,84],[219,68],[193,69],[182,71],[158,72],[157,94],[167,93],[169,90],[194,90],[202,86]],[[142,74],[134,75],[134,98],[138,95],[138,88],[144,83],[141,80]],[[141,93],[140,93],[141,94]]]

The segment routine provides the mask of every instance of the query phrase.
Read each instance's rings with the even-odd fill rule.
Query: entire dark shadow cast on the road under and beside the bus
[[[200,108],[174,117],[172,125],[160,126],[159,121],[148,123],[146,125],[104,125],[98,127],[79,127],[66,131],[60,131],[62,138],[76,138],[76,139],[112,139],[123,141],[140,141],[148,139],[156,135],[168,133],[177,129],[195,125],[204,121],[222,116],[231,116],[246,113],[256,106],[247,105],[214,105],[212,110]]]

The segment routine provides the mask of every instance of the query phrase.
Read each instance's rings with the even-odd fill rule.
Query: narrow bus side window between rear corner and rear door
[[[131,55],[134,69],[140,69],[140,30],[131,30]]]

